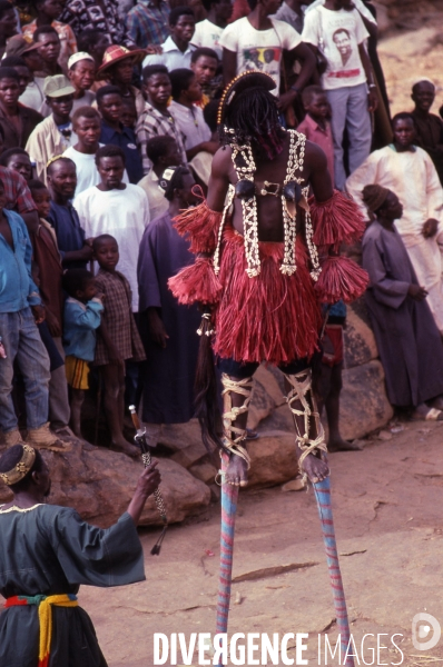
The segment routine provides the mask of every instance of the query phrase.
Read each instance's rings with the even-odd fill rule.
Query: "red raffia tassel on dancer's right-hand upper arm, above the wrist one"
[[[365,231],[358,207],[338,190],[327,201],[317,202],[311,197],[309,208],[316,246],[334,246],[338,250],[342,242],[354,243]]]

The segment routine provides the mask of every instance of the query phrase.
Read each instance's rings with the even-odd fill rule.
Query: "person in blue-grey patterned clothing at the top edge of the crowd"
[[[169,4],[166,0],[140,0],[126,17],[129,37],[139,49],[163,44],[169,37]]]

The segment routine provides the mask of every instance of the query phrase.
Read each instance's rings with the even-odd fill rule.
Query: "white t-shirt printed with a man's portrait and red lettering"
[[[365,83],[358,44],[370,33],[356,9],[333,11],[322,6],[306,12],[302,37],[303,41],[317,47],[327,60],[327,69],[322,77],[325,90]]]

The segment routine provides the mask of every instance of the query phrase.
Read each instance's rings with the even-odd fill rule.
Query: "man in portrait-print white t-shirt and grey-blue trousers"
[[[343,190],[343,133],[350,139],[350,171],[357,169],[371,151],[370,112],[377,106],[365,41],[370,37],[351,0],[325,0],[306,12],[303,39],[326,60],[322,84],[332,108],[335,187]]]

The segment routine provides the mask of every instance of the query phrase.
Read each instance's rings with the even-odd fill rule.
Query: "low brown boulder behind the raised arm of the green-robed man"
[[[76,441],[72,451],[65,455],[41,450],[52,478],[50,502],[77,509],[81,517],[98,526],[109,526],[126,511],[137,479],[142,470],[140,461],[105,448],[82,448]],[[168,459],[159,459],[168,521],[183,521],[201,511],[209,504],[210,490],[200,480]],[[0,488],[0,500],[10,499],[10,492]],[[160,525],[154,497],[149,498],[141,516],[141,526]]]

